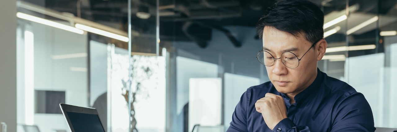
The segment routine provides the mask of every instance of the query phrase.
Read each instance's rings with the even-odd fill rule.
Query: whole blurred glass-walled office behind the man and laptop
[[[108,132],[222,132],[268,81],[255,24],[277,0],[3,0],[0,122],[67,130],[59,103],[96,107]],[[324,11],[321,71],[397,128],[397,1],[310,0]]]

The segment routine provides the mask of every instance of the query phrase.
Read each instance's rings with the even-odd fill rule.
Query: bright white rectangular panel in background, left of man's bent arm
[[[193,126],[219,126],[222,122],[222,78],[189,79],[189,132]]]

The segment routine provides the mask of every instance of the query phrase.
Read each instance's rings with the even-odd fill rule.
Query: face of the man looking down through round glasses
[[[264,28],[262,38],[263,47],[267,49],[265,51],[276,59],[281,57],[283,50],[291,49],[293,49],[291,52],[301,59],[302,55],[312,46],[312,43],[307,41],[303,35],[295,37],[272,27]],[[277,91],[295,96],[306,89],[317,75],[316,54],[318,54],[316,50],[310,49],[295,69],[285,67],[280,59],[277,59],[274,65],[266,66],[269,79]]]

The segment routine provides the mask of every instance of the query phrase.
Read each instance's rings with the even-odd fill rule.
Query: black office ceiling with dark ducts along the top
[[[45,8],[60,12],[77,14],[77,5],[81,6],[81,17],[110,27],[127,31],[128,1],[127,0],[25,0]],[[140,33],[153,34],[156,31],[156,0],[132,1],[132,28]],[[343,10],[346,0],[311,0],[322,5],[324,13]],[[192,40],[190,26],[212,28],[225,25],[254,27],[258,18],[268,6],[276,0],[160,0],[160,39]],[[377,3],[378,2],[378,3]],[[396,5],[397,0],[349,0],[350,4],[360,4],[360,11],[368,13],[388,13]],[[379,5],[381,8],[378,8]],[[139,19],[135,13],[139,6],[149,8],[152,17]],[[167,8],[168,7],[168,8]],[[167,14],[168,13],[168,14]],[[183,28],[185,26],[185,30]],[[196,27],[197,28],[197,27]],[[210,34],[210,30],[202,30],[198,36]],[[187,35],[188,34],[188,35]],[[203,35],[204,34],[204,35]],[[205,39],[210,39],[206,38]]]

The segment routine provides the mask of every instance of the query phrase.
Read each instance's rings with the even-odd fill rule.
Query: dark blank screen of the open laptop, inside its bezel
[[[98,115],[66,111],[75,132],[105,132]]]

